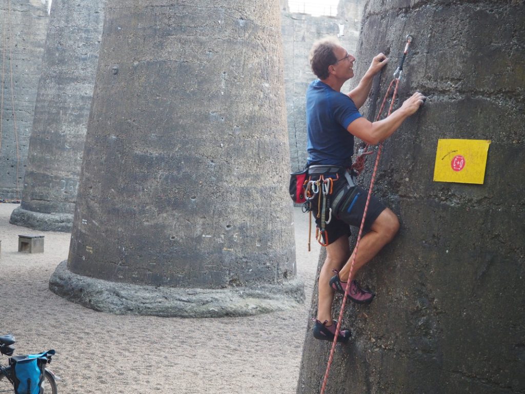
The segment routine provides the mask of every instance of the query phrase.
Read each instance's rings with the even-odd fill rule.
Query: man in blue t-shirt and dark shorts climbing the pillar
[[[326,340],[333,340],[335,335],[336,324],[332,320],[334,292],[344,294],[346,286],[350,284],[348,295],[353,302],[368,304],[374,298],[372,292],[361,288],[352,280],[353,277],[349,278],[355,253],[355,250],[350,253],[349,225],[361,225],[367,197],[367,191],[355,185],[349,170],[354,137],[371,145],[384,141],[426,99],[416,92],[387,118],[370,122],[361,116],[359,108],[369,95],[374,76],[388,63],[388,58],[383,54],[375,56],[359,85],[349,94],[343,94],[340,90],[344,82],[354,76],[354,61],[355,58],[335,38],[316,42],[310,51],[310,65],[319,79],[311,82],[306,97],[308,174],[313,188],[307,190],[307,194],[311,198],[310,206],[320,230],[320,240],[322,238],[327,251],[319,275],[319,307],[313,335]],[[327,181],[329,179],[330,182]],[[322,181],[316,186],[318,180]],[[344,193],[338,194],[341,190]],[[323,194],[330,194],[330,198]],[[337,204],[336,195],[342,195]],[[335,210],[335,206],[326,205],[331,203],[338,207],[344,206],[344,210]],[[352,276],[393,239],[398,229],[397,216],[372,195],[365,217],[365,235],[360,241]],[[350,330],[342,329],[338,341],[346,341],[350,335]]]

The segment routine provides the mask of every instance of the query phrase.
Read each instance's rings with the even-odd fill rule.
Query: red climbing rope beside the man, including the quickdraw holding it
[[[390,103],[390,107],[388,108],[388,113],[387,113],[386,116],[388,117],[392,113],[392,109],[394,108],[395,97],[397,95],[397,88],[399,86],[399,82],[400,82],[401,76],[403,74],[403,63],[405,62],[405,57],[406,57],[406,54],[408,53],[408,46],[410,45],[411,42],[412,42],[412,36],[409,36],[409,35],[406,36],[406,45],[405,45],[405,50],[403,51],[403,58],[401,59],[399,67],[397,67],[397,69],[394,72],[394,79],[392,80],[392,82],[390,82],[390,85],[388,86],[388,89],[386,90],[386,94],[385,94],[385,97],[383,99],[383,103],[381,105],[381,109],[379,110],[379,113],[377,113],[376,121],[378,121],[380,119],[381,113],[383,112],[383,109],[384,109],[385,104],[386,104],[386,100],[387,100],[388,96],[390,95],[390,91],[392,90],[392,87],[395,86],[394,93],[392,95],[392,101]],[[364,168],[364,162],[365,162],[366,155],[369,155],[369,154],[373,153],[373,151],[369,151],[368,148],[369,148],[369,145],[367,145],[366,149],[363,152],[361,152],[360,157],[358,157],[356,159],[356,162],[358,161],[358,159],[360,160],[358,166],[362,166],[361,171]],[[350,285],[349,285],[350,284],[350,280],[351,280],[351,278],[353,276],[355,258],[358,255],[359,243],[361,241],[361,236],[363,234],[364,221],[366,219],[366,212],[368,211],[368,205],[369,205],[369,202],[370,202],[370,196],[372,195],[372,190],[374,188],[375,177],[376,177],[376,174],[377,174],[377,168],[379,167],[379,159],[381,157],[381,151],[382,150],[383,150],[383,142],[380,142],[379,148],[377,149],[377,156],[375,158],[374,171],[372,172],[372,179],[370,180],[370,188],[369,188],[369,191],[368,191],[368,195],[366,197],[366,204],[364,206],[363,219],[361,220],[361,226],[359,227],[358,239],[355,242],[354,256],[352,258],[352,263],[350,264],[350,273],[348,274],[348,279],[346,279],[347,285],[346,285],[346,288],[344,290],[343,301],[341,303],[341,309],[339,311],[339,318],[337,320],[337,326],[335,327],[335,334],[334,334],[334,338],[333,338],[333,342],[332,342],[332,348],[330,349],[330,356],[328,357],[327,369],[326,369],[326,371],[324,373],[323,384],[322,384],[322,387],[321,387],[321,394],[324,394],[324,390],[326,389],[326,386],[327,386],[327,383],[328,383],[328,376],[330,374],[330,368],[332,366],[333,355],[334,355],[334,351],[335,351],[335,345],[337,344],[337,337],[339,336],[339,331],[341,329],[341,323],[342,323],[342,320],[343,320],[343,312],[344,312],[344,306],[346,304],[346,296],[348,295],[348,289],[350,288]],[[354,168],[354,165],[352,165],[352,168]],[[361,171],[359,171],[359,172],[361,172]]]

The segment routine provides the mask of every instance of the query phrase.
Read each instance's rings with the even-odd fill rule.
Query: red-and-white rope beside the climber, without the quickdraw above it
[[[392,89],[392,86],[394,84],[395,84],[394,94],[392,96],[392,102],[390,103],[390,108],[388,108],[388,115],[387,116],[389,116],[392,113],[392,109],[394,108],[395,97],[397,95],[397,88],[399,86],[399,79],[398,78],[394,78],[392,80],[392,82],[390,82],[390,86],[388,86],[388,89],[386,91],[385,98],[383,99],[383,103],[381,105],[381,109],[379,110],[379,113],[377,114],[376,121],[379,120],[379,118],[381,116],[381,113],[383,112],[383,109],[384,109],[385,103],[386,103],[386,99],[387,99],[388,95],[390,94],[390,90]],[[367,145],[366,146],[366,151],[368,150],[368,147],[369,146]],[[364,206],[363,219],[361,220],[361,226],[359,227],[358,240],[355,243],[355,253],[354,253],[354,257],[352,258],[352,263],[350,264],[350,274],[348,275],[348,279],[346,279],[348,284],[350,283],[350,280],[352,278],[352,274],[353,274],[353,270],[354,270],[355,258],[358,255],[359,243],[361,241],[361,235],[363,234],[364,221],[366,219],[366,212],[368,211],[368,205],[369,205],[369,202],[370,202],[370,196],[372,195],[372,189],[374,188],[375,177],[376,177],[376,174],[377,174],[377,167],[379,166],[379,159],[381,157],[382,149],[383,149],[383,142],[381,142],[379,144],[379,149],[377,150],[377,157],[375,158],[374,171],[372,173],[372,179],[370,180],[370,188],[369,188],[369,191],[368,191],[368,195],[366,197],[366,204]],[[364,158],[364,154],[370,154],[370,153],[372,153],[372,151],[370,151],[368,153],[362,153],[362,157]],[[362,162],[363,162],[363,166],[364,166],[364,159],[362,160]],[[332,348],[330,349],[330,356],[328,357],[327,369],[326,369],[326,371],[324,373],[323,385],[321,387],[321,394],[324,394],[324,390],[326,389],[326,386],[327,386],[327,383],[328,383],[328,376],[330,374],[330,368],[332,366],[333,354],[334,354],[334,351],[335,351],[335,345],[337,344],[337,337],[339,335],[339,330],[341,329],[341,323],[342,323],[342,320],[343,320],[342,317],[343,317],[343,312],[344,312],[344,306],[346,304],[346,295],[348,294],[348,289],[350,288],[350,286],[348,284],[346,285],[346,288],[344,290],[343,302],[341,304],[341,310],[339,312],[339,318],[337,320],[337,326],[335,327],[335,334],[334,334],[334,338],[333,338],[333,342],[332,342]]]

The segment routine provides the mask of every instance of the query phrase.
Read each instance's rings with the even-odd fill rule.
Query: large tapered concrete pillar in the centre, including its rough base
[[[50,288],[117,313],[297,305],[278,1],[119,0],[105,15]]]

